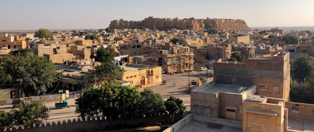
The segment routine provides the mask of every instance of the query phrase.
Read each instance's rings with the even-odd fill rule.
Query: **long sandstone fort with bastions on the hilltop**
[[[217,19],[217,18],[206,18],[206,19],[178,19],[176,18],[154,18],[148,17],[142,21],[111,21],[109,27],[111,29],[122,29],[122,28],[149,28],[157,30],[169,30],[173,28],[177,29],[190,29],[190,30],[204,30],[209,27],[214,27],[219,30],[243,30],[249,29],[246,22],[240,19]]]

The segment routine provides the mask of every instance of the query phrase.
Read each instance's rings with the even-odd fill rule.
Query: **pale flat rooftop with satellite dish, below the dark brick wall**
[[[198,91],[202,92],[208,92],[208,93],[235,93],[238,94],[240,91],[238,88],[242,87],[242,91],[245,90],[248,86],[238,86],[238,85],[229,85],[229,84],[221,84],[221,83],[216,83],[215,86],[212,87],[206,87],[199,89]]]

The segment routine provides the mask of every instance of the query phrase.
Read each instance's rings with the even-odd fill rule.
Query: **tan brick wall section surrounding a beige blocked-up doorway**
[[[236,121],[243,120],[243,101],[241,94],[233,94],[233,93],[219,93],[219,105],[220,105],[220,118],[225,119],[226,114],[226,106],[235,107],[236,108]]]

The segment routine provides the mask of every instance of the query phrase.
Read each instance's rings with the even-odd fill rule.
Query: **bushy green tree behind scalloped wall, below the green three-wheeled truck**
[[[17,109],[12,108],[13,113],[12,119],[14,120],[13,125],[22,125],[25,128],[30,128],[41,125],[42,121],[49,117],[44,109],[44,104],[40,101],[34,101],[32,103],[24,102],[17,106]]]

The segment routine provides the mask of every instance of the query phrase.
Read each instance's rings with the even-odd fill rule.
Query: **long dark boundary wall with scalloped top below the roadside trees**
[[[182,119],[181,114],[174,115],[174,122],[177,122]],[[155,125],[156,123],[161,124],[168,124],[172,121],[170,115],[161,115],[155,118],[145,118],[145,117],[138,117],[133,118],[130,120],[125,120],[124,128],[134,128],[134,127],[143,127],[145,125]],[[111,120],[111,130],[121,129],[123,120]],[[56,131],[66,131],[66,132],[78,132],[78,131],[97,131],[98,130],[98,123],[97,120],[93,117],[91,120],[75,120],[73,119],[65,121],[63,120],[62,123],[60,121],[47,123],[45,126],[44,123],[41,124],[40,127],[35,127],[35,131],[40,132],[56,132]],[[109,120],[105,118],[100,118],[100,130],[109,130]],[[34,128],[23,128],[19,126],[17,128],[13,127],[10,129],[6,129],[6,132],[33,132]],[[0,131],[3,132],[3,131]]]

